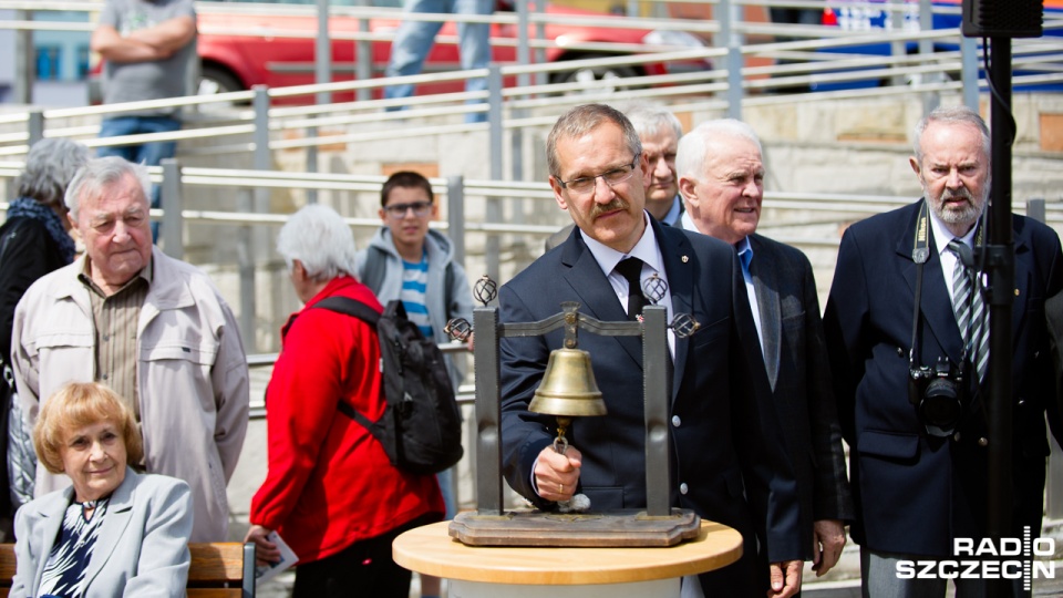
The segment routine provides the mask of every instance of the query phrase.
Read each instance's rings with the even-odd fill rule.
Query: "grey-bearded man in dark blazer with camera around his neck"
[[[977,112],[933,111],[916,127],[910,159],[923,198],[857,223],[842,238],[824,327],[842,431],[853,446],[853,537],[861,547],[865,596],[945,596],[945,579],[898,579],[898,561],[951,559],[956,538],[973,538],[977,546],[987,536],[987,447],[993,442],[984,415],[988,299],[964,254],[984,239],[989,147],[989,130]],[[1057,420],[1044,300],[1063,288],[1063,251],[1059,236],[1040,223],[1013,216],[1011,226],[1008,536],[1022,538],[1024,526],[1034,537],[1041,530],[1045,411],[1053,426]],[[926,257],[921,267],[914,256]],[[936,411],[926,409],[931,401],[920,405],[925,392],[914,393],[915,404],[910,400],[909,368],[937,370],[939,359],[942,371],[962,367],[966,381],[958,384],[960,400],[938,401],[937,408],[950,409]],[[958,421],[945,416],[950,411]],[[956,585],[960,596],[984,591],[980,579]]]

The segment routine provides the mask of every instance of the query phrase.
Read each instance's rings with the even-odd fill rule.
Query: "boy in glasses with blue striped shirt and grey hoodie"
[[[445,235],[429,228],[438,216],[432,184],[424,176],[402,171],[384,182],[380,192],[380,227],[369,247],[358,252],[358,279],[381,303],[401,300],[406,316],[426,339],[447,342],[444,328],[452,318],[473,319],[473,296],[465,269],[454,260],[454,247]],[[469,350],[473,341],[469,339]],[[445,355],[455,392],[464,371]],[[446,503],[446,517],[456,513],[454,468],[438,474]],[[438,580],[421,577],[421,596],[438,596]]]

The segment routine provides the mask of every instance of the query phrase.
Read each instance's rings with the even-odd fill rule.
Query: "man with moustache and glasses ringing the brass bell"
[[[700,576],[701,587],[709,596],[761,595],[768,566],[758,560],[760,540],[771,561],[768,595],[792,596],[804,553],[795,483],[767,377],[747,342],[755,330],[734,251],[650,218],[642,183],[649,164],[630,122],[609,106],[577,106],[561,116],[547,138],[547,159],[555,198],[576,230],[502,288],[502,321],[540,320],[563,301],[578,301],[582,313],[600,320],[626,320],[637,316],[627,313],[629,300],[641,297],[641,283],[629,297],[626,276],[664,279],[669,318],[690,313],[702,326],[690,338],[669,333],[673,504],[736,528],[745,542],[740,561]],[[633,337],[579,339],[608,414],[577,419],[564,454],[551,447],[554,417],[527,409],[550,350],[561,347],[561,331],[504,339],[504,473],[540,508],[577,492],[596,511],[644,507],[642,346]]]

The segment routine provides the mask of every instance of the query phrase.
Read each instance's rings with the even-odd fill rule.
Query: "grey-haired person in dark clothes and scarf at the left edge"
[[[10,532],[11,517],[19,505],[33,498],[37,457],[29,430],[22,426],[22,410],[14,398],[11,373],[11,328],[14,308],[25,289],[38,278],[74,260],[74,239],[63,195],[78,168],[89,161],[89,147],[54,137],[33,144],[25,156],[25,171],[16,181],[17,199],[8,207],[8,219],[0,226],[0,440],[4,454],[0,470],[0,528]],[[4,425],[6,424],[6,425]]]

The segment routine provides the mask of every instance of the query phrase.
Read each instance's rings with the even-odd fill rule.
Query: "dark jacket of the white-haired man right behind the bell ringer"
[[[801,538],[811,553],[813,522],[854,515],[816,279],[801,250],[761,235],[750,245],[764,365],[797,475]]]

